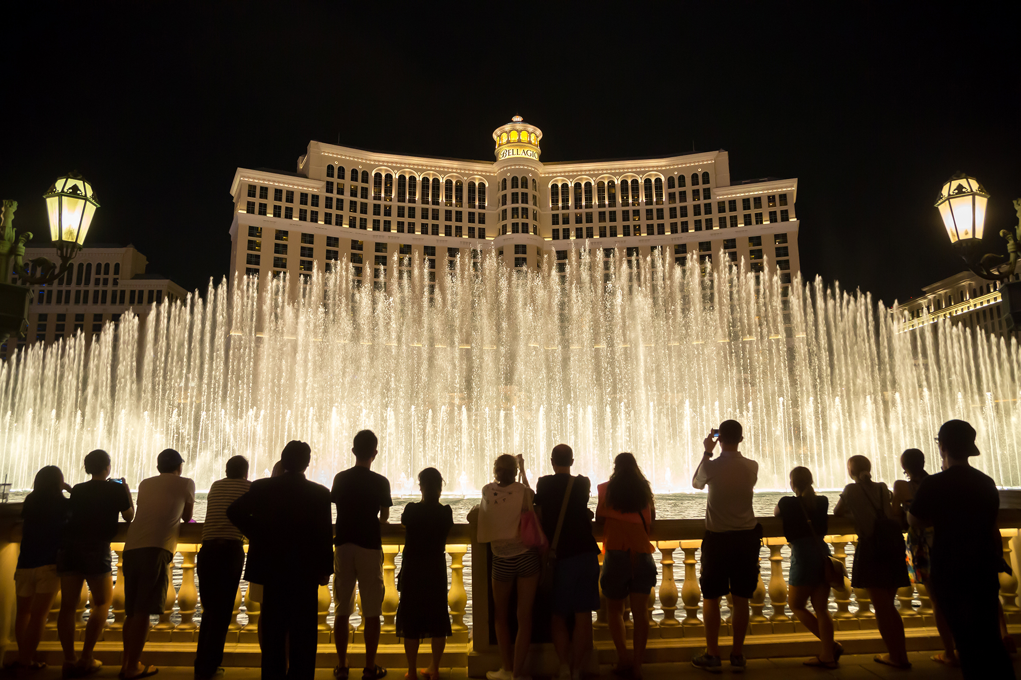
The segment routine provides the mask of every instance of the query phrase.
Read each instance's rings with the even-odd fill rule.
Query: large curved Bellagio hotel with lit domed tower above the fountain
[[[385,290],[387,268],[411,262],[444,270],[458,255],[474,260],[495,249],[506,267],[535,271],[546,255],[563,269],[589,248],[682,267],[722,252],[752,271],[776,267],[785,283],[798,270],[796,179],[732,181],[722,150],[542,161],[542,130],[518,116],[493,141],[492,161],[313,141],[295,172],[238,168],[232,269],[286,272],[296,286],[346,258],[356,285]]]

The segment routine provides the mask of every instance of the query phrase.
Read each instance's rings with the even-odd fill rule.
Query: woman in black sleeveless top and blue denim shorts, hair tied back
[[[805,662],[806,666],[835,669],[843,647],[833,641],[833,620],[829,613],[829,583],[824,573],[824,560],[830,554],[823,540],[828,529],[826,517],[829,499],[818,495],[812,487],[812,471],[796,467],[790,471],[790,488],[794,495],[785,495],[776,504],[774,515],[783,519],[783,535],[790,545],[790,611],[813,635],[822,642],[819,655]],[[812,609],[807,608],[812,600]]]

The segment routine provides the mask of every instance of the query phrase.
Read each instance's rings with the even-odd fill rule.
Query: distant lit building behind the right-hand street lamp
[[[1018,280],[1014,274],[1014,280]],[[1000,282],[987,281],[970,271],[922,289],[922,295],[901,305],[903,330],[925,327],[939,319],[963,323],[990,333],[1009,333],[1001,309]]]

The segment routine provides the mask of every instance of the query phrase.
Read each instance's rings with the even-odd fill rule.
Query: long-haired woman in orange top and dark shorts
[[[599,585],[610,610],[610,633],[617,647],[617,675],[641,678],[642,656],[648,639],[648,597],[655,587],[655,563],[648,532],[655,519],[652,489],[631,454],[614,461],[610,481],[599,484],[595,519],[602,530],[602,575]],[[628,653],[624,636],[624,599],[631,599],[634,651]]]

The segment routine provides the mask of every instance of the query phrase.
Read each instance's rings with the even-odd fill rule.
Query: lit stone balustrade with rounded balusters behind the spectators
[[[12,646],[12,624],[14,605],[13,571],[17,558],[20,525],[17,521],[16,505],[0,507],[0,651]],[[806,632],[804,627],[791,616],[787,607],[787,583],[784,577],[785,561],[789,560],[789,550],[785,550],[786,540],[782,535],[782,524],[779,518],[765,517],[760,521],[764,527],[764,548],[762,554],[762,570],[755,595],[751,598],[751,617],[749,624],[748,644],[756,644],[757,639],[779,640],[782,636]],[[1017,537],[1021,528],[1021,510],[1003,509],[1000,514],[1001,534],[1004,541],[1004,556],[1009,564],[1018,572],[1016,557]],[[201,539],[201,525],[189,524],[182,527],[178,542],[176,565],[172,565],[173,581],[176,587],[167,589],[166,614],[159,618],[149,634],[150,642],[191,645],[196,640],[199,623],[195,621],[200,604],[200,593],[196,587],[195,557]],[[825,539],[831,543],[834,557],[844,561],[850,567],[848,547],[856,543],[857,536],[853,533],[850,522],[842,518],[830,518],[831,532]],[[123,531],[117,538],[123,540]],[[701,591],[698,585],[698,548],[701,545],[700,536],[704,532],[702,520],[657,520],[651,527],[659,562],[660,578],[658,586],[650,592],[649,611],[643,613],[650,621],[649,650],[652,660],[672,660],[668,650],[700,645],[704,637],[704,628],[700,618]],[[451,617],[452,638],[449,640],[448,657],[450,663],[454,660],[467,660],[471,675],[477,675],[480,670],[493,668],[498,659],[495,639],[491,636],[489,625],[489,579],[479,578],[486,573],[488,564],[488,546],[474,541],[474,527],[458,524],[451,530],[446,551],[450,556],[450,589],[447,595]],[[598,538],[598,536],[597,536]],[[394,617],[399,601],[399,593],[395,583],[395,559],[402,548],[403,529],[397,525],[384,527],[384,584],[386,595],[383,604],[383,626],[381,643],[396,644]],[[112,545],[116,553],[116,564],[119,566],[123,558],[123,542]],[[469,553],[471,552],[471,553]],[[471,556],[472,578],[466,587],[465,557]],[[680,566],[678,567],[678,563]],[[962,584],[967,587],[967,584]],[[469,590],[470,588],[470,590]],[[471,629],[466,624],[465,615],[471,595],[472,621]],[[229,632],[229,645],[255,645],[257,643],[256,629],[259,617],[260,593],[258,588],[239,588],[235,597],[235,617]],[[1001,574],[1001,596],[1008,623],[1012,626],[1021,624],[1021,606],[1018,604],[1018,578],[1016,575]],[[897,593],[898,607],[909,637],[913,629],[932,628],[934,620],[932,607],[924,586],[902,588]],[[915,603],[919,603],[918,606]],[[101,646],[107,643],[119,647],[124,613],[125,590],[119,578],[114,581],[112,620],[104,631]],[[337,634],[350,637],[352,651],[357,651],[362,642],[360,626],[358,629],[349,627],[338,633],[336,627],[329,625],[332,605],[332,588],[323,586],[320,589],[319,630],[320,643],[331,643]],[[594,644],[603,657],[611,653],[610,631],[606,625],[605,599],[602,608],[595,614],[593,623]],[[78,611],[79,627],[84,628],[84,614],[88,606],[88,591],[83,589],[82,603]],[[56,610],[59,598],[54,604],[54,611],[48,624],[47,640],[56,639]],[[855,639],[854,631],[862,631],[858,635],[863,639],[877,639],[875,631],[876,620],[872,612],[868,593],[865,590],[853,589],[849,581],[844,582],[841,589],[833,589],[832,607],[835,627],[841,639]],[[242,616],[243,615],[243,616]],[[630,624],[630,622],[629,622]],[[729,621],[722,634],[728,635]],[[927,634],[932,637],[934,633]],[[769,637],[767,637],[769,636]],[[780,636],[780,637],[777,637]],[[44,642],[52,644],[53,642]],[[549,645],[541,647],[541,656],[551,659]],[[873,645],[874,646],[874,645]],[[57,647],[54,647],[57,648]],[[383,647],[381,647],[383,648]],[[922,647],[926,648],[926,647]],[[252,646],[252,649],[256,647]],[[870,648],[871,650],[871,648]],[[605,653],[603,653],[605,652]],[[601,659],[602,657],[600,657]],[[250,663],[250,662],[249,662]],[[537,662],[539,663],[539,662]]]

